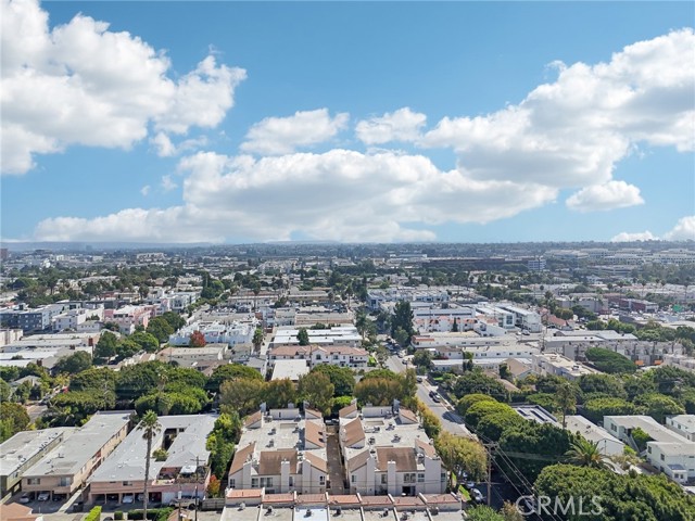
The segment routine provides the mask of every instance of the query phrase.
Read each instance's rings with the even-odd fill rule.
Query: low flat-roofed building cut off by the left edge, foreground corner
[[[3,442],[0,445],[0,497],[17,492],[24,472],[65,442],[76,430],[63,427],[22,431]]]

